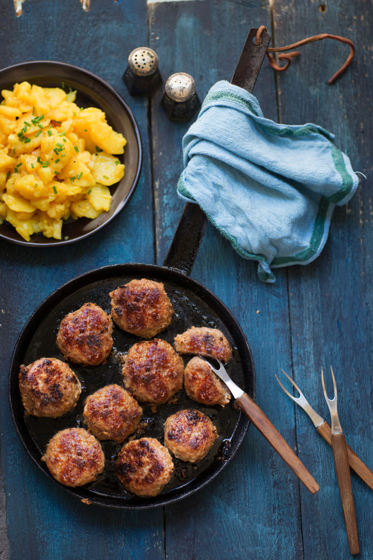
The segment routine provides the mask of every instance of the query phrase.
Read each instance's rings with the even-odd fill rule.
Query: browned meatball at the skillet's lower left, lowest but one
[[[50,474],[65,486],[83,486],[96,479],[105,467],[100,442],[83,428],[57,432],[41,458]]]

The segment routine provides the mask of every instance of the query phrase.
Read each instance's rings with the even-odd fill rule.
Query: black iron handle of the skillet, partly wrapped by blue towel
[[[249,31],[231,80],[233,85],[243,87],[250,93],[253,91],[271,40],[271,35],[264,31],[261,44],[255,45],[253,41],[257,31],[256,28]],[[187,202],[163,266],[190,276],[206,225],[207,217],[198,204]]]

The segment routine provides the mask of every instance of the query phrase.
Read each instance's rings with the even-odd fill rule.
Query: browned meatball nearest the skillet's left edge
[[[82,387],[67,363],[40,358],[20,367],[20,391],[27,414],[57,418],[77,404]]]

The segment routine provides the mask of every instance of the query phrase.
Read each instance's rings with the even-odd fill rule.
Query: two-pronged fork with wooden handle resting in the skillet
[[[200,356],[200,358],[201,360],[204,360],[204,362],[208,363],[211,370],[213,370],[214,373],[218,375],[218,377],[220,377],[222,381],[224,381],[225,385],[228,386],[228,389],[234,396],[235,403],[238,405],[238,407],[246,414],[248,418],[251,419],[254,426],[266,438],[268,443],[272,445],[273,449],[277,451],[278,455],[280,455],[280,457],[284,459],[285,463],[290,466],[290,468],[303,482],[306,488],[308,488],[311,493],[317,492],[320,487],[316,480],[308,472],[298,456],[295,455],[294,451],[286,443],[281,434],[276,430],[275,426],[273,426],[272,422],[267,418],[263,410],[258,407],[258,405],[247,393],[240,389],[239,386],[236,385],[234,381],[232,381],[232,379],[230,379],[225,370],[225,367],[223,366],[223,363],[215,358],[219,363],[219,369],[217,369],[211,366],[211,363],[205,360],[204,357]]]

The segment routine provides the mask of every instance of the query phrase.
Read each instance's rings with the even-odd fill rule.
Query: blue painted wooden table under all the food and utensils
[[[121,80],[136,46],[156,50],[164,80],[195,77],[203,98],[232,77],[250,27],[264,24],[277,46],[330,32],[355,41],[356,58],[332,87],[326,81],[346,57],[331,41],[308,45],[284,74],[263,64],[255,94],[268,118],[315,122],[336,134],[367,181],[336,208],[322,255],[306,267],[277,269],[273,285],[258,281],[256,264],[240,258],[208,225],[192,277],[232,310],[251,345],[257,403],[318,480],[311,495],[251,426],[234,460],[209,485],[165,508],[113,511],[87,506],[50,482],[18,441],[7,400],[12,349],[23,324],[60,284],[102,265],[162,264],[183,203],[176,194],[181,138],[188,124],[171,123],[152,99],[130,97]],[[336,560],[350,557],[332,452],[308,417],[282,393],[284,368],[328,418],[320,368],[337,374],[339,410],[348,443],[373,468],[373,209],[372,5],[301,0],[30,0],[16,18],[0,6],[1,66],[60,60],[108,81],[130,105],[144,148],[140,183],[129,205],[88,239],[54,250],[0,241],[1,457],[12,560],[148,559]],[[373,558],[373,491],[352,475],[360,556]]]

